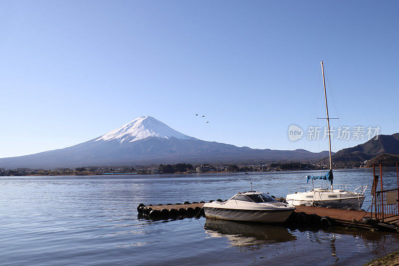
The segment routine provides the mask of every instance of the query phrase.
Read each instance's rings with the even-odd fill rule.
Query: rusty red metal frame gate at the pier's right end
[[[386,189],[383,188],[383,164],[396,165],[397,173],[397,188]],[[374,217],[376,220],[382,220],[399,216],[399,162],[384,162],[384,163],[373,163],[373,187],[372,195],[374,202]],[[376,165],[380,165],[380,176],[376,175]],[[377,191],[378,181],[380,179],[381,190]],[[393,193],[396,194],[396,201],[392,200]],[[395,197],[395,195],[394,195]],[[395,203],[394,203],[395,202]],[[373,208],[373,207],[372,207]]]

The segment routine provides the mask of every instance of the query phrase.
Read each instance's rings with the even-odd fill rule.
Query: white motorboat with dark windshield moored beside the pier
[[[295,210],[294,206],[276,201],[263,192],[238,192],[225,202],[209,202],[203,205],[207,218],[283,223]]]

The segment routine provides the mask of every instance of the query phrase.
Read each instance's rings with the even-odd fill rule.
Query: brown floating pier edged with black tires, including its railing
[[[384,189],[383,165],[396,167],[397,188]],[[380,170],[380,175],[376,175]],[[371,211],[365,212],[341,210],[321,207],[295,206],[296,210],[285,222],[287,226],[293,227],[331,227],[334,225],[346,226],[348,228],[361,228],[369,230],[383,230],[399,232],[399,162],[375,163],[373,164],[373,186]],[[391,181],[392,183],[392,181]],[[380,188],[380,190],[378,190]],[[275,198],[277,201],[285,202],[284,198]],[[218,199],[216,201],[223,202]],[[209,201],[212,202],[212,201]],[[137,206],[139,217],[151,220],[183,219],[186,217],[203,217],[203,204],[200,202],[184,202],[183,204],[158,204]],[[374,208],[374,212],[373,212]],[[370,209],[370,208],[369,208]]]

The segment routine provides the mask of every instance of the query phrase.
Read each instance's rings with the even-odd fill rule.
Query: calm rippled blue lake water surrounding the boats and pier
[[[363,265],[399,250],[394,233],[138,219],[140,203],[225,200],[250,190],[249,182],[284,197],[288,188],[306,185],[309,173],[325,174],[3,177],[0,265]],[[396,185],[396,172],[384,178]],[[334,181],[370,185],[372,171],[337,170]],[[368,196],[363,208],[370,203]]]

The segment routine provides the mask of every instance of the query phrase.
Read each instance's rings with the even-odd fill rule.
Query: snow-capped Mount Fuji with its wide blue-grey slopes
[[[137,166],[166,163],[264,163],[319,160],[328,152],[250,149],[200,140],[143,116],[92,140],[52,151],[0,159],[0,168]]]

